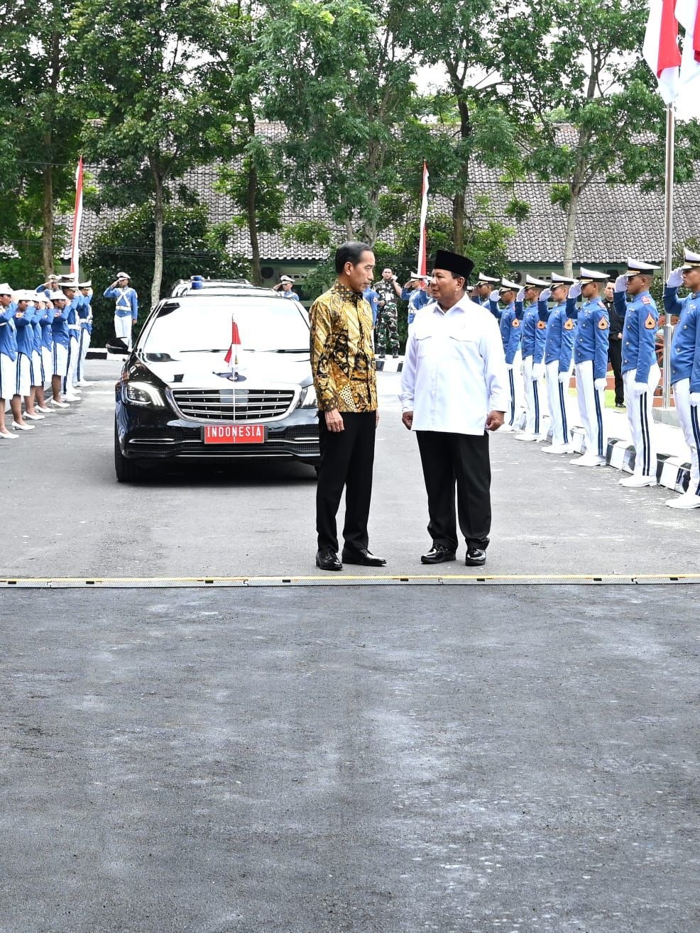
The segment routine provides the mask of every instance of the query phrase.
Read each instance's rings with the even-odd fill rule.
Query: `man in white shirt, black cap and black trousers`
[[[423,564],[456,559],[457,531],[468,566],[486,562],[491,530],[488,433],[503,424],[508,373],[496,318],[466,294],[473,263],[438,250],[435,304],[415,315],[401,374],[402,420],[416,433],[426,483],[432,548]],[[456,517],[455,517],[456,485]]]

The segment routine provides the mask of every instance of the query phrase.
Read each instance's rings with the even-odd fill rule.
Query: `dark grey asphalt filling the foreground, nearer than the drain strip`
[[[3,933],[695,933],[695,587],[0,593]]]

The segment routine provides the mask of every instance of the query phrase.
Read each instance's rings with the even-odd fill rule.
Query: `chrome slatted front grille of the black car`
[[[284,418],[294,403],[289,389],[173,389],[179,414],[188,421],[270,421]]]

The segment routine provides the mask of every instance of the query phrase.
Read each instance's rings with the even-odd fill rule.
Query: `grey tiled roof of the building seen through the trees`
[[[566,128],[565,128],[566,129]],[[259,132],[269,138],[284,134],[281,124],[264,124]],[[206,205],[213,223],[230,221],[240,213],[231,198],[214,190],[217,165],[192,169],[183,179],[197,192]],[[93,171],[92,176],[96,173]],[[518,181],[514,186],[505,184],[495,169],[476,164],[471,172],[470,195],[488,194],[490,213],[497,220],[514,227],[515,233],[508,244],[508,255],[514,264],[552,263],[563,261],[566,234],[566,216],[560,207],[550,201],[551,186],[534,176]],[[517,224],[506,215],[505,209],[512,195],[530,205],[530,215]],[[697,203],[700,200],[700,182],[676,186],[674,240],[681,242],[698,232]],[[472,202],[473,203],[473,202]],[[451,206],[446,199],[433,197],[428,208],[428,236],[430,214],[449,214]],[[80,231],[80,249],[85,252],[98,230],[119,217],[120,211],[103,209],[99,215],[91,211],[83,214]],[[70,243],[72,216],[63,217]],[[325,205],[316,199],[303,206],[288,199],[283,207],[283,227],[303,220],[329,221]],[[337,228],[338,240],[344,238],[344,229]],[[383,231],[381,239],[392,244],[396,233]],[[231,237],[231,252],[251,257],[250,240],[245,228],[237,228]],[[285,243],[281,233],[259,233],[260,257],[263,261],[321,260],[328,257],[328,249],[315,245]],[[664,255],[664,194],[663,191],[642,192],[637,185],[609,186],[604,180],[594,181],[581,195],[576,225],[574,258],[576,262],[619,264],[627,256],[661,260]]]

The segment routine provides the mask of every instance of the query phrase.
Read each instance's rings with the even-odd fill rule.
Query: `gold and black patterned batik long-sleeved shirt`
[[[370,303],[336,282],[311,306],[311,368],[321,411],[376,411]]]

